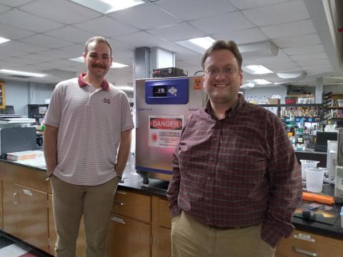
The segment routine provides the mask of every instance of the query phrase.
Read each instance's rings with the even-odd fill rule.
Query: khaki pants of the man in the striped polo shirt
[[[99,186],[77,186],[51,179],[52,204],[57,232],[56,257],[76,256],[76,239],[84,215],[86,257],[105,256],[106,233],[119,178]]]

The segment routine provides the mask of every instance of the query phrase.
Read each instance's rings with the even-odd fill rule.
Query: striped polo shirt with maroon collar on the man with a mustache
[[[96,186],[116,176],[121,131],[133,129],[134,123],[123,91],[107,81],[94,89],[83,76],[56,85],[43,123],[59,128],[54,175]]]

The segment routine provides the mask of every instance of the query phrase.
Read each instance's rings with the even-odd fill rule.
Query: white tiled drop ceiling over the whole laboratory
[[[43,78],[18,79],[44,84],[77,76],[85,66],[70,61],[81,56],[91,36],[109,39],[114,61],[108,80],[132,85],[136,47],[158,46],[176,54],[176,66],[189,75],[201,69],[201,54],[176,41],[201,36],[253,44],[270,40],[279,48],[271,57],[247,57],[243,65],[262,64],[274,74],[252,75],[274,86],[342,84],[340,0],[156,0],[130,9],[101,14],[69,0],[0,0],[0,69],[39,72]],[[280,79],[277,72],[304,71],[304,79]],[[0,75],[0,79],[13,77]]]

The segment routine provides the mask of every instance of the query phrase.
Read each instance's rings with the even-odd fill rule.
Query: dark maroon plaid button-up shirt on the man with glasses
[[[276,246],[302,200],[292,144],[277,116],[242,95],[226,114],[218,120],[208,102],[189,116],[167,191],[172,216],[187,211],[217,228],[262,223],[262,239]]]

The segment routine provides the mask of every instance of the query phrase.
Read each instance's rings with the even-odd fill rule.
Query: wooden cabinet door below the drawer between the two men
[[[107,233],[107,256],[150,257],[150,225],[111,214]]]

